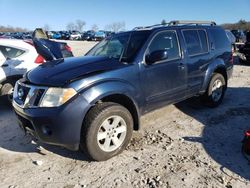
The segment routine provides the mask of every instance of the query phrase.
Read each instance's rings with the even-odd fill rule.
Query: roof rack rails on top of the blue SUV
[[[164,27],[164,26],[178,26],[178,25],[211,25],[215,26],[216,23],[214,21],[186,21],[186,20],[173,20],[166,24],[155,24],[150,26],[140,26],[135,27],[133,30],[145,30],[145,29],[153,29],[155,27]]]

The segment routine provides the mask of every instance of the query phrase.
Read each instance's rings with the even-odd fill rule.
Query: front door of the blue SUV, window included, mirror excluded
[[[187,87],[186,64],[181,55],[177,31],[158,32],[149,43],[146,55],[158,50],[166,50],[167,59],[150,65],[144,60],[141,73],[146,111],[185,97]]]

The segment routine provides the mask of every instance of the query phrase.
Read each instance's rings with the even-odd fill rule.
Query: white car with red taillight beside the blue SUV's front
[[[43,62],[32,41],[0,39],[0,96],[11,96],[15,82]]]

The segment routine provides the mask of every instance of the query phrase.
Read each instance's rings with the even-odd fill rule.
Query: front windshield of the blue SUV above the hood
[[[104,39],[87,56],[104,56],[121,61],[132,61],[149,35],[149,31],[127,32]]]

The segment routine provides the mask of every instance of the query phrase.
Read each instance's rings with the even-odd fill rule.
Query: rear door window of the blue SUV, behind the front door
[[[207,33],[205,30],[183,30],[183,36],[190,56],[208,52]]]

